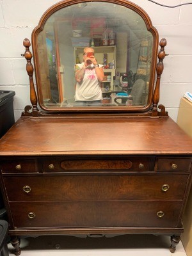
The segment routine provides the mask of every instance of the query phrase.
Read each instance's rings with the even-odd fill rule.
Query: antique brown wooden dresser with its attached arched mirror
[[[71,11],[74,13],[77,8],[88,8],[88,12],[93,12],[102,4],[103,12],[107,8],[110,13],[110,8],[116,4],[116,13],[118,8],[122,10],[121,17],[121,12],[134,12],[138,15],[138,22],[143,20],[147,38],[148,33],[152,35],[152,54],[148,55],[148,58],[151,56],[150,68],[145,65],[150,74],[142,74],[146,86],[149,84],[143,92],[147,100],[141,106],[135,106],[134,103],[132,106],[102,103],[96,107],[77,107],[71,102],[65,107],[60,106],[61,101],[66,100],[54,102],[52,96],[47,96],[52,92],[50,90],[47,93],[51,82],[49,86],[45,83],[45,74],[49,72],[51,76],[50,68],[53,67],[49,67],[51,64],[47,63],[46,58],[39,57],[48,54],[48,50],[45,51],[45,35],[48,33],[45,28],[51,30],[50,23],[54,17],[56,31],[56,25],[59,26],[61,20],[60,14],[63,15],[62,26],[67,22],[73,24],[76,20],[66,16],[66,8],[74,8]],[[77,20],[82,18],[77,15],[73,17]],[[120,17],[116,19],[121,24]],[[115,28],[118,52],[118,36],[124,36],[125,28],[121,35]],[[59,34],[59,30],[54,35]],[[141,34],[144,35],[139,31],[138,38],[142,37]],[[33,31],[32,42],[41,110],[37,107],[32,55],[29,40],[26,39],[24,56],[28,61],[32,107],[26,106],[21,118],[0,141],[1,187],[15,255],[20,254],[19,237],[51,234],[164,234],[171,237],[170,251],[175,252],[180,234],[184,232],[182,215],[191,185],[192,141],[168,116],[164,106],[159,106],[160,111],[157,109],[166,40],[160,42],[156,86],[154,77],[158,34],[147,13],[131,2],[64,1],[55,4],[43,15]],[[60,42],[56,40],[52,49],[56,49],[57,61],[52,65],[56,68],[60,65],[61,70],[58,60],[66,56],[59,56],[61,52],[58,47]],[[101,49],[97,47],[95,52]],[[116,59],[116,70],[120,68],[119,62]],[[64,66],[67,70],[66,64]],[[45,67],[49,68],[45,70]],[[67,74],[64,72],[63,80]],[[116,83],[116,77],[113,78]],[[58,88],[60,95],[61,88]],[[113,90],[114,93],[116,90]]]

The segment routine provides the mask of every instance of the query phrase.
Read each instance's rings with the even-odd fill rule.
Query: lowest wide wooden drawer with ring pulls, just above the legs
[[[24,227],[176,227],[182,201],[11,203],[13,223]]]

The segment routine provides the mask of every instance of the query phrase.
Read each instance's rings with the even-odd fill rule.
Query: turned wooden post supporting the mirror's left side
[[[29,46],[31,43],[28,38],[25,38],[23,41],[24,47],[26,47],[26,51],[22,56],[24,56],[27,60],[26,70],[29,76],[29,84],[30,84],[30,100],[32,104],[32,116],[38,116],[38,108],[37,108],[37,97],[35,92],[35,86],[33,82],[33,65],[31,63],[32,54],[29,51]]]

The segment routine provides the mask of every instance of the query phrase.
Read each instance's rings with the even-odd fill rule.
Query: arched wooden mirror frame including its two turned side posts
[[[92,2],[103,2],[99,0],[92,0]],[[38,72],[38,66],[39,66],[39,58],[38,58],[38,49],[37,49],[37,38],[40,31],[44,29],[45,22],[54,12],[57,12],[61,8],[65,8],[67,6],[71,6],[73,4],[78,3],[84,3],[84,2],[90,2],[89,0],[67,0],[67,1],[61,1],[60,3],[54,4],[49,8],[44,15],[42,15],[42,18],[40,19],[40,22],[38,26],[33,30],[32,33],[32,47],[33,47],[33,56],[34,56],[34,63],[35,63],[35,75],[36,75],[36,88],[38,93],[38,104],[40,108],[42,108],[46,113],[144,113],[144,115],[152,115],[151,113],[154,112],[154,116],[157,116],[157,104],[159,102],[159,84],[160,84],[160,78],[161,74],[163,72],[163,58],[165,56],[164,53],[164,46],[166,45],[166,40],[161,40],[161,51],[159,52],[158,58],[159,63],[157,64],[157,50],[158,50],[158,41],[159,36],[157,33],[156,28],[152,26],[152,22],[150,20],[150,17],[148,17],[148,14],[140,8],[140,6],[131,3],[129,1],[124,0],[106,0],[107,3],[113,3],[113,4],[120,4],[126,8],[129,8],[133,10],[134,12],[138,13],[141,18],[145,21],[145,24],[147,26],[148,31],[152,33],[153,36],[153,45],[152,45],[152,67],[151,67],[151,74],[150,74],[150,83],[149,83],[149,90],[148,90],[148,101],[145,106],[131,106],[131,108],[127,106],[116,106],[116,107],[96,107],[96,108],[47,108],[44,106],[44,100],[42,95],[42,86],[40,81],[40,72]],[[29,51],[30,42],[29,40],[24,40],[24,46],[26,47],[26,52],[24,56],[28,60],[27,63],[27,70],[29,75],[29,81],[30,81],[30,97],[31,97],[31,103],[32,103],[32,112],[33,116],[36,116],[40,111],[37,108],[37,98],[35,93],[35,88],[33,84],[33,66],[31,64],[31,58],[30,56],[31,52]],[[157,64],[157,82],[156,82],[156,88],[154,90],[154,79],[156,75],[156,64]],[[159,65],[159,66],[158,66]],[[29,113],[29,106],[25,109],[26,113]],[[160,106],[161,108],[161,115],[166,115],[164,111],[164,106]],[[162,111],[163,109],[163,111]],[[26,114],[28,115],[28,114]]]

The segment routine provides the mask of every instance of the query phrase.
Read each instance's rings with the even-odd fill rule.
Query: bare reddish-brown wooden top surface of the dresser
[[[0,156],[192,154],[192,140],[167,118],[20,118]]]

